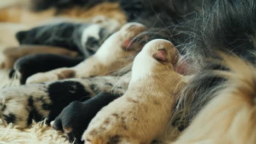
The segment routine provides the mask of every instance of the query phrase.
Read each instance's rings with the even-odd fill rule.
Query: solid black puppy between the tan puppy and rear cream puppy
[[[68,57],[55,54],[27,55],[18,59],[14,70],[18,72],[20,83],[23,85],[29,76],[62,67],[73,67],[84,60],[84,57]],[[9,76],[13,76],[11,70]]]

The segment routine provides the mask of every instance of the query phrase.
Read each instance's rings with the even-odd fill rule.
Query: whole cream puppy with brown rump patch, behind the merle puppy
[[[131,63],[136,53],[141,50],[140,46],[131,46],[132,38],[145,30],[146,28],[140,23],[127,23],[104,41],[95,55],[82,63],[72,68],[60,68],[32,75],[28,77],[26,83],[107,75],[114,70],[123,68]]]

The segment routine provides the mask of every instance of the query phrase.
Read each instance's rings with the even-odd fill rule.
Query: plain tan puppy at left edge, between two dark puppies
[[[78,53],[63,49],[62,47],[43,46],[43,45],[20,45],[19,47],[11,47],[3,51],[4,60],[0,64],[0,68],[11,69],[14,63],[21,57],[36,53],[54,53],[65,56],[75,57]]]

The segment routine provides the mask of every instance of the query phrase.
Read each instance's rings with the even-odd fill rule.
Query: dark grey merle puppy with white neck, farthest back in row
[[[20,44],[60,46],[89,57],[119,28],[112,21],[93,24],[62,22],[20,31],[16,38]]]

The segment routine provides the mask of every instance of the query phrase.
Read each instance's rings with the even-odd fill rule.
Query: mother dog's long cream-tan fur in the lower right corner
[[[193,119],[172,144],[256,143],[255,66],[238,57],[225,57],[229,71],[217,71],[228,79],[222,91]]]

